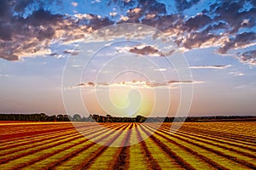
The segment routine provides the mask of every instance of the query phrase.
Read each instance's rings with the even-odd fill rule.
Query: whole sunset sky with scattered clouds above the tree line
[[[1,0],[0,113],[255,116],[256,2]]]

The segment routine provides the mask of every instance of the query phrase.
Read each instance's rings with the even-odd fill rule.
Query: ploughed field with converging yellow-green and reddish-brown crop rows
[[[256,169],[256,122],[0,122],[0,169]],[[107,127],[104,128],[104,127]],[[127,129],[131,129],[127,131]]]

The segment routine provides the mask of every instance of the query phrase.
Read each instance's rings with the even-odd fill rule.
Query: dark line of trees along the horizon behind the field
[[[188,117],[116,117],[80,116],[75,114],[48,116],[45,113],[35,114],[0,114],[0,121],[30,121],[30,122],[224,122],[224,121],[256,121],[256,116],[188,116]]]

